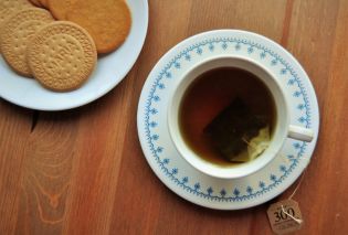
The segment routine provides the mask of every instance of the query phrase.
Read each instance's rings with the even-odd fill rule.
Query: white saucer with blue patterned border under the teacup
[[[264,64],[287,87],[292,124],[312,128],[314,140],[306,143],[287,139],[270,164],[238,180],[215,179],[193,169],[179,156],[169,137],[168,102],[175,84],[188,70],[218,54],[235,54]],[[239,210],[275,197],[300,175],[316,145],[319,113],[307,74],[285,49],[255,33],[218,30],[189,38],[161,57],[144,85],[137,121],[145,157],[170,190],[202,206]]]

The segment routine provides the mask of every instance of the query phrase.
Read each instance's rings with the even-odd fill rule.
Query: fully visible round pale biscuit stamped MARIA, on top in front
[[[42,28],[28,46],[28,62],[34,77],[56,92],[80,87],[94,71],[96,61],[91,35],[66,21]]]

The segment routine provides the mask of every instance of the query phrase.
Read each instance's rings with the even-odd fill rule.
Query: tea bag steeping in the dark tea
[[[204,133],[228,161],[250,161],[260,156],[270,142],[266,117],[252,114],[240,98],[233,99],[204,128]]]

